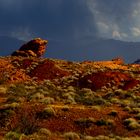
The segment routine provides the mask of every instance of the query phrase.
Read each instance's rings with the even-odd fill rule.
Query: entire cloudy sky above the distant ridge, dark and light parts
[[[0,0],[0,35],[140,41],[140,0]]]

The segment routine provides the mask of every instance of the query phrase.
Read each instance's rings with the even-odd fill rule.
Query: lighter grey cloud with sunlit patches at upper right
[[[100,36],[137,41],[132,29],[140,28],[137,27],[140,25],[139,0],[89,0],[88,6],[94,15]]]

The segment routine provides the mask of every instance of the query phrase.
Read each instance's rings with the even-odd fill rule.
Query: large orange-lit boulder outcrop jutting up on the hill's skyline
[[[35,38],[26,44],[23,44],[19,50],[14,51],[12,56],[23,56],[23,57],[41,57],[46,51],[47,40],[41,38]]]

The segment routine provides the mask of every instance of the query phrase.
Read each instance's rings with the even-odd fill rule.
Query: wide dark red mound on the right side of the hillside
[[[80,87],[90,88],[92,90],[100,89],[103,86],[107,86],[108,83],[111,86],[128,90],[139,84],[140,81],[133,79],[129,74],[121,72],[97,72],[89,74],[80,79]],[[121,86],[124,83],[124,86]]]

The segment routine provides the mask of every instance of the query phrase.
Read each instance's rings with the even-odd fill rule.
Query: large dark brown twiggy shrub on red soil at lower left
[[[14,118],[11,118],[11,129],[18,133],[30,135],[38,131],[39,121],[36,119],[37,106],[21,106],[15,113]],[[17,120],[17,121],[16,121]]]

